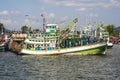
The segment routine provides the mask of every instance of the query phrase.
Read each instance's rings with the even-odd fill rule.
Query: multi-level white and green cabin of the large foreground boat
[[[56,29],[57,24],[48,24],[46,25],[45,33],[29,33],[27,35],[27,39],[25,40],[26,49],[49,50],[57,48],[58,36]]]

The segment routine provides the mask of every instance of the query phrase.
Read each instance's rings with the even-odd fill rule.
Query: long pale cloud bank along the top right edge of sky
[[[120,7],[119,0],[44,0],[44,2],[58,6],[75,7],[78,11],[91,8]]]

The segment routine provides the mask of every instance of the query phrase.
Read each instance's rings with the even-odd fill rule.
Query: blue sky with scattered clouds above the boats
[[[28,25],[42,29],[42,15],[46,23],[65,27],[78,18],[83,25],[103,23],[120,26],[120,0],[0,0],[0,23],[10,30]]]

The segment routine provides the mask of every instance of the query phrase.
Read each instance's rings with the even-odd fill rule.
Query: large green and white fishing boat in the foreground
[[[79,37],[73,31],[77,18],[63,30],[57,24],[46,24],[40,33],[28,33],[19,54],[31,55],[90,55],[106,52],[106,42],[93,42],[88,36]]]

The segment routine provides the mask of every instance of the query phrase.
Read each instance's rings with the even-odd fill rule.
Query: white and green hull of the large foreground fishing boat
[[[30,50],[22,49],[20,54],[32,55],[90,55],[102,54],[106,51],[106,43],[91,44],[85,46],[77,46],[71,48],[62,48],[56,50]]]

